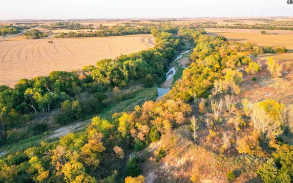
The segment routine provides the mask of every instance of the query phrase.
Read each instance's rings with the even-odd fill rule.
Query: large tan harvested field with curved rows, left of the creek
[[[48,41],[53,43],[48,43]],[[0,85],[22,78],[72,71],[101,59],[113,59],[154,46],[151,35],[103,38],[41,39],[0,42]]]

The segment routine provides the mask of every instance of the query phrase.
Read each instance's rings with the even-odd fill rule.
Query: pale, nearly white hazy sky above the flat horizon
[[[293,16],[287,0],[1,0],[0,20]]]

